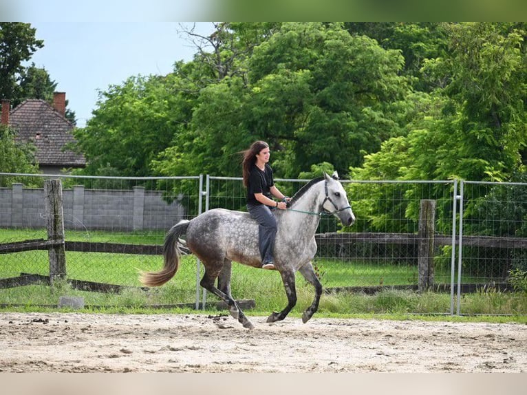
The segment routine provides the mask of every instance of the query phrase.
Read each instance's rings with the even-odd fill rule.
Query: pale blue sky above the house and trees
[[[44,41],[29,63],[44,68],[56,92],[65,92],[67,108],[84,127],[96,108],[98,92],[121,85],[130,76],[166,75],[176,61],[191,61],[196,52],[178,22],[39,22],[27,21]],[[200,22],[195,32],[210,34],[213,23]]]

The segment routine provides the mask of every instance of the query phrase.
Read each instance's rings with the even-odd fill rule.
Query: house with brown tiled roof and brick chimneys
[[[1,123],[17,131],[16,140],[33,142],[35,160],[45,174],[62,173],[65,169],[85,167],[82,154],[66,148],[75,141],[74,125],[65,117],[66,94],[55,92],[53,105],[41,99],[28,99],[14,109],[10,100],[2,100]]]

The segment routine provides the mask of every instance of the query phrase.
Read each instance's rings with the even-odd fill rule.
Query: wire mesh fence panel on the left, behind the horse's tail
[[[39,185],[45,176],[32,178],[37,182],[30,187],[15,183],[0,188],[0,244],[5,246],[0,255],[0,278],[10,279],[0,289],[0,303],[53,304],[57,292],[82,295],[90,306],[186,303],[195,299],[195,258],[186,257],[189,262],[181,266],[178,281],[149,295],[140,287],[138,272],[160,270],[160,245],[166,231],[199,213],[200,177],[53,176],[63,186],[67,262],[67,281],[56,281],[54,288],[74,288],[59,289],[54,294],[54,288],[49,288],[47,250],[20,250],[19,246],[24,241],[48,238],[44,189]],[[8,253],[8,248],[14,252]],[[12,286],[17,284],[24,286]]]

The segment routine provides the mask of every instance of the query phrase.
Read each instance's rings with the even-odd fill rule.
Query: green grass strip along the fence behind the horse
[[[90,242],[162,244],[162,233],[107,233],[68,231],[68,240]],[[12,242],[23,239],[46,238],[45,231],[0,229],[0,241]],[[138,269],[159,270],[162,257],[154,255],[125,255],[109,253],[67,252],[67,276],[72,279],[96,281],[107,284],[120,284],[139,287]],[[349,286],[379,286],[386,289],[376,295],[341,292],[324,294],[321,298],[317,317],[449,317],[450,294],[442,292],[417,293],[394,290],[393,285],[416,284],[418,273],[415,266],[394,264],[387,261],[356,262],[336,259],[317,259],[316,273],[325,288]],[[202,270],[202,269],[201,269]],[[33,250],[21,253],[0,255],[0,278],[17,277],[20,273],[49,273],[47,251]],[[191,308],[162,309],[155,305],[173,303],[193,303],[196,295],[197,260],[193,256],[182,257],[180,270],[174,279],[160,288],[148,292],[138,288],[129,288],[120,293],[103,294],[72,289],[69,284],[56,282],[54,286],[31,285],[18,288],[0,289],[0,303],[18,305],[12,309],[42,309],[39,306],[56,306],[62,295],[85,298],[85,311],[108,312],[159,312],[193,311]],[[450,272],[436,270],[437,283],[449,283]],[[256,308],[248,312],[252,315],[267,315],[273,310],[286,306],[286,292],[279,273],[268,270],[255,270],[246,266],[233,266],[231,284],[233,296],[237,299],[255,299]],[[290,313],[300,317],[305,308],[312,303],[313,288],[301,275],[297,274],[297,306]],[[218,299],[207,295],[207,303],[212,306]],[[492,317],[502,314],[512,321],[521,321],[517,317],[527,316],[527,295],[525,292],[499,292],[492,288],[485,292],[462,295],[461,311],[469,315]],[[104,306],[104,307],[94,307]],[[53,310],[56,310],[54,308]],[[208,311],[214,311],[208,310]]]

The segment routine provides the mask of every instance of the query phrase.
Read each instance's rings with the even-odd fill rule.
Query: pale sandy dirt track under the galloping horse
[[[527,325],[0,313],[2,372],[527,372]]]

